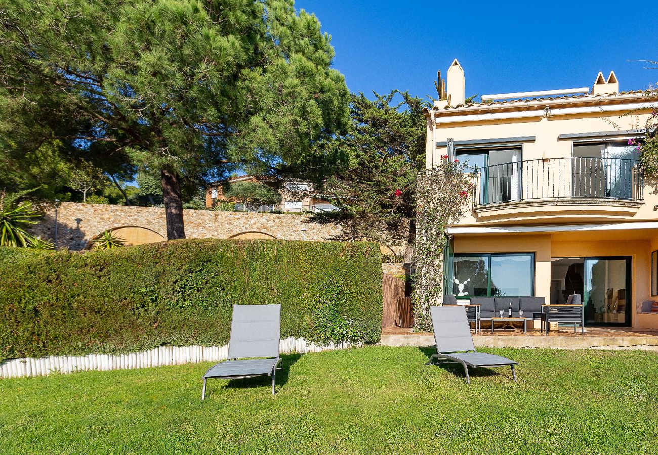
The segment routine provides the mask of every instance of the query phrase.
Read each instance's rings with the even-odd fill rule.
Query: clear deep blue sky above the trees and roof
[[[452,4],[451,4],[452,3]],[[459,59],[466,95],[587,87],[615,70],[621,90],[658,82],[658,8],[649,2],[297,0],[332,36],[351,91],[436,97]],[[597,12],[600,11],[600,12]],[[654,65],[657,66],[657,65]]]

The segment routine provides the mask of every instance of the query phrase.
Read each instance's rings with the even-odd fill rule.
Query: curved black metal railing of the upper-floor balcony
[[[542,199],[644,200],[639,161],[546,158],[492,164],[473,173],[474,206]]]

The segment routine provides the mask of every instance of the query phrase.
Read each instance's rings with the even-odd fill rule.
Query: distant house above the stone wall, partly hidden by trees
[[[336,206],[324,201],[320,195],[313,192],[313,185],[304,181],[280,181],[274,178],[259,176],[238,176],[228,179],[228,183],[241,182],[265,183],[281,195],[281,204],[263,205],[260,207],[243,206],[240,201],[236,202],[236,210],[255,210],[259,212],[328,212],[336,210]],[[215,182],[207,188],[206,206],[213,207],[218,201],[224,201],[222,181]]]

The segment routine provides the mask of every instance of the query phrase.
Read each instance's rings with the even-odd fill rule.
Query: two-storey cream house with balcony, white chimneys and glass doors
[[[658,95],[619,91],[610,72],[591,88],[465,103],[457,60],[446,79],[425,111],[427,166],[466,162],[474,196],[447,228],[445,293],[580,294],[586,326],[658,327],[658,313],[640,312],[658,300],[658,191],[629,145]]]

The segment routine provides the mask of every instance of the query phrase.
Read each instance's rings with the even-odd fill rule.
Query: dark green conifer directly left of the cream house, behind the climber
[[[341,226],[343,240],[373,239],[388,246],[406,241],[410,256],[416,179],[425,168],[422,109],[427,103],[397,90],[374,95],[372,101],[363,93],[352,95],[349,132],[317,145],[326,155],[340,157],[342,166],[318,183],[322,197],[338,210],[313,218]],[[395,95],[403,101],[392,104]]]

